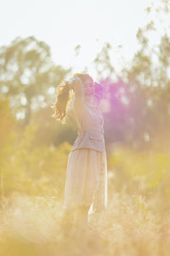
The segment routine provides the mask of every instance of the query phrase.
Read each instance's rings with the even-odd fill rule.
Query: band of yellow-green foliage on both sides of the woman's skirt
[[[1,193],[53,195],[61,200],[71,143],[65,141],[57,146],[37,143],[41,122],[35,119],[22,131],[16,125],[8,99],[1,99],[0,106],[3,121],[0,126]],[[64,131],[57,131],[57,134]],[[130,194],[147,194],[161,188],[162,194],[169,199],[169,158],[169,154],[161,152],[136,152],[124,146],[116,148],[108,154],[108,172],[112,173],[108,178],[109,191],[125,189]]]

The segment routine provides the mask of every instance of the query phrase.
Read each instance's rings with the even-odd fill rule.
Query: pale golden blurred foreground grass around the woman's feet
[[[11,195],[1,201],[0,255],[169,255],[170,215],[159,194],[110,195],[108,211],[88,215],[94,232],[65,236],[61,201]],[[76,236],[77,235],[77,236]]]

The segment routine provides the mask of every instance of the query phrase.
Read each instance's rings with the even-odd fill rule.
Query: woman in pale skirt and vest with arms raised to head
[[[70,92],[74,92],[72,97]],[[75,73],[57,87],[54,117],[65,123],[69,109],[79,128],[66,170],[62,223],[67,228],[75,215],[75,224],[87,227],[91,205],[93,212],[104,212],[107,207],[104,119],[99,108],[102,96],[103,86],[87,73]]]

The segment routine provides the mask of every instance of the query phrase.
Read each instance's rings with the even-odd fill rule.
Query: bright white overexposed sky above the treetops
[[[116,67],[132,57],[138,48],[136,32],[148,16],[150,0],[5,0],[0,11],[0,45],[14,38],[35,36],[51,47],[56,64],[81,72],[108,42],[115,50]],[[74,48],[80,44],[79,55]],[[118,50],[117,45],[122,44]]]

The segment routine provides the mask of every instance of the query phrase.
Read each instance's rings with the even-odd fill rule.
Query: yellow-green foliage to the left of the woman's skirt
[[[37,125],[27,125],[22,134],[13,131],[14,117],[8,101],[1,100],[3,121],[0,148],[1,194],[14,191],[27,195],[62,196],[70,143],[35,146]]]

